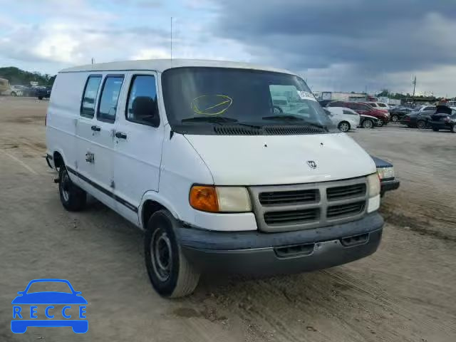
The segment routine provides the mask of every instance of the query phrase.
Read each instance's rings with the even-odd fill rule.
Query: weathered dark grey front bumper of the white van
[[[346,264],[373,254],[383,218],[374,212],[355,222],[294,232],[214,232],[177,229],[182,252],[200,271],[291,274]]]

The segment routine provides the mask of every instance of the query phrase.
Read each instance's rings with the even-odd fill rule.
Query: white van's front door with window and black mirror
[[[114,128],[115,198],[120,214],[138,224],[142,195],[158,191],[164,127],[157,74],[131,71],[125,81],[128,93]]]

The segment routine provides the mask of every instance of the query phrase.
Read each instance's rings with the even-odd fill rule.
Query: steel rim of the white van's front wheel
[[[172,247],[168,234],[161,228],[155,230],[150,241],[150,258],[155,275],[160,281],[171,276]]]

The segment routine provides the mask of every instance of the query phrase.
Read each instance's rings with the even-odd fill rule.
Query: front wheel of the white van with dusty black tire
[[[195,291],[199,272],[182,253],[175,234],[176,219],[158,210],[147,222],[144,256],[147,274],[155,291],[167,298],[187,296]]]

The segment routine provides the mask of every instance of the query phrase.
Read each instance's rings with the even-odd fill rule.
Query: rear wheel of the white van
[[[65,165],[58,170],[58,193],[65,209],[70,212],[80,212],[86,207],[87,194],[71,182]]]

